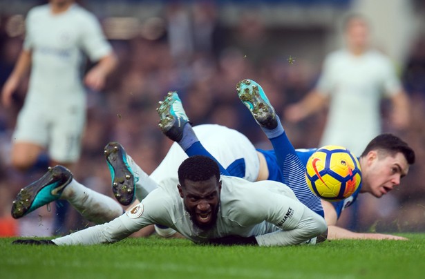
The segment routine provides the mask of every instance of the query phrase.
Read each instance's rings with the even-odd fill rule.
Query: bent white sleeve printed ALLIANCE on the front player
[[[260,246],[301,244],[327,229],[325,220],[299,202],[285,184],[255,182],[237,194],[241,197],[240,202],[229,210],[229,218],[246,227],[265,221],[280,228],[270,233],[257,233]]]

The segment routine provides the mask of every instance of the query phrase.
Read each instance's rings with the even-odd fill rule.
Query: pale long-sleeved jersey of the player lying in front
[[[177,189],[169,178],[120,218],[53,240],[59,245],[115,242],[149,224],[171,227],[189,240],[202,243],[227,235],[255,236],[259,245],[290,245],[323,233],[323,218],[299,202],[285,184],[248,182],[222,176],[216,226],[208,231],[193,227]]]

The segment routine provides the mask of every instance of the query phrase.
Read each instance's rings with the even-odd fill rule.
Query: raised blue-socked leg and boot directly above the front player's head
[[[182,101],[176,92],[169,92],[160,107],[157,109],[160,115],[160,129],[170,140],[177,142],[185,153],[193,155],[205,155],[215,160],[222,175],[230,175],[229,172],[216,160],[216,158],[202,146],[182,106]]]

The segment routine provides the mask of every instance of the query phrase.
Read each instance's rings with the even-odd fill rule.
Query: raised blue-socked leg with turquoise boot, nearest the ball
[[[287,138],[278,115],[265,95],[263,88],[251,79],[244,79],[236,86],[240,100],[247,106],[256,122],[267,135],[276,153],[278,166],[283,173],[283,183],[290,186],[296,198],[319,215],[324,215],[321,200],[305,182],[305,166],[294,146]]]

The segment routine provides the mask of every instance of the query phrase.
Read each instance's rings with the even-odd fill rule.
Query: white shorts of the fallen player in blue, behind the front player
[[[202,146],[227,169],[230,165],[240,170],[244,163],[243,173],[239,175],[248,181],[256,181],[260,169],[260,161],[254,145],[236,130],[216,124],[203,124],[193,127]],[[178,167],[187,159],[185,151],[175,142],[158,168],[150,177],[158,184],[168,177],[177,177]],[[240,160],[242,159],[242,160]],[[237,171],[236,171],[237,172]]]

